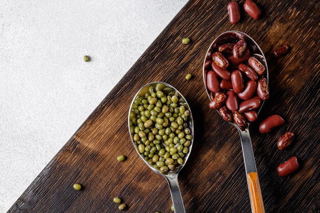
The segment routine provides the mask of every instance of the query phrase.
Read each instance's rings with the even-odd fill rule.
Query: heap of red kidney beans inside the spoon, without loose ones
[[[234,120],[241,129],[245,129],[247,121],[257,120],[256,110],[262,100],[269,98],[264,78],[266,68],[252,56],[245,40],[212,48],[204,69],[208,70],[206,83],[211,91],[211,109],[218,109],[225,121]]]

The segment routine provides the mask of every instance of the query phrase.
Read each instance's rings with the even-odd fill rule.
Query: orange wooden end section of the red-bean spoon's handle
[[[253,213],[265,213],[257,172],[248,174],[248,185]]]

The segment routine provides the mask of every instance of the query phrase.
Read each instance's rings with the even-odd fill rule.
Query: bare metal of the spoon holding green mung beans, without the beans
[[[164,84],[167,88],[170,88],[172,91],[171,92],[177,92],[178,94],[178,98],[179,98],[179,105],[180,106],[184,106],[186,108],[186,110],[189,110],[190,111],[190,116],[189,116],[189,119],[188,119],[188,128],[191,130],[191,135],[193,136],[193,133],[194,133],[194,125],[193,125],[193,117],[192,117],[192,113],[191,113],[191,109],[186,101],[186,99],[182,96],[182,94],[177,90],[175,89],[173,86],[171,86],[170,84],[167,84],[167,83],[164,83],[164,82],[151,82],[151,83],[148,83],[146,85],[144,85],[140,90],[139,92],[137,92],[132,100],[132,103],[131,103],[131,106],[130,106],[130,110],[129,110],[129,117],[128,117],[128,126],[129,126],[129,133],[130,133],[130,112],[132,110],[132,105],[134,103],[134,100],[140,96],[140,97],[144,97],[144,94],[149,90],[149,87],[150,86],[156,86],[157,84]],[[170,90],[169,89],[169,90]],[[132,124],[131,124],[132,125]],[[164,176],[168,183],[169,183],[169,187],[170,187],[170,192],[171,192],[171,197],[172,197],[172,202],[173,202],[173,207],[174,207],[174,211],[176,213],[185,213],[185,207],[184,207],[184,203],[182,202],[182,197],[181,197],[181,193],[180,193],[180,188],[179,188],[179,185],[178,185],[178,174],[179,172],[181,171],[181,169],[184,167],[184,165],[186,164],[188,158],[189,158],[189,155],[190,155],[190,152],[191,152],[191,149],[192,149],[192,145],[193,145],[193,138],[190,140],[191,143],[190,143],[190,146],[188,147],[189,148],[189,152],[184,156],[185,158],[185,162],[184,164],[181,164],[181,165],[178,165],[173,171],[168,171],[166,173],[163,173],[161,172],[160,170],[156,169],[153,167],[153,165],[150,165],[147,160],[140,154],[139,150],[138,150],[138,144],[133,140],[133,136],[132,134],[130,134],[130,137],[131,137],[131,140],[132,140],[132,143],[135,147],[135,150],[138,152],[139,156],[141,157],[141,159],[148,165],[148,167],[155,173],[159,174],[159,175],[162,175]]]

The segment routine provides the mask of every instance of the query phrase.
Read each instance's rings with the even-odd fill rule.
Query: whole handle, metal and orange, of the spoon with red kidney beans
[[[261,188],[258,179],[255,156],[254,151],[252,149],[249,130],[239,130],[239,132],[241,138],[245,172],[247,174],[251,209],[253,213],[264,213],[265,211],[263,206]]]

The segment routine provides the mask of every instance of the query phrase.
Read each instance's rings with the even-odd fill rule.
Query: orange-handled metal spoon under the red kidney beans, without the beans
[[[220,34],[210,45],[208,52],[210,51],[212,46],[216,46],[220,42],[223,42],[225,40],[231,40],[231,41],[237,41],[243,39],[247,42],[251,54],[253,54],[256,58],[258,58],[266,67],[266,73],[264,77],[267,79],[268,83],[268,66],[266,59],[263,55],[262,50],[260,49],[259,45],[246,35],[245,33],[239,32],[239,31],[227,31],[222,34]],[[207,56],[206,54],[206,56]],[[205,62],[204,58],[204,62]],[[210,90],[207,87],[207,81],[206,81],[206,76],[207,76],[207,70],[204,69],[204,62],[203,62],[203,81],[205,85],[205,90],[207,91],[208,97],[210,99]],[[264,103],[264,102],[263,102]],[[258,111],[258,114],[263,106],[263,103],[261,104],[261,107]],[[218,110],[217,110],[218,111]],[[219,113],[219,111],[218,111]],[[262,200],[262,194],[261,194],[261,189],[260,189],[260,184],[259,184],[259,179],[258,179],[258,173],[257,173],[257,168],[256,168],[256,162],[255,162],[255,157],[254,157],[254,151],[252,149],[252,143],[250,139],[250,134],[249,134],[249,122],[247,122],[246,127],[242,128],[238,126],[235,122],[229,122],[233,126],[235,126],[239,133],[240,133],[240,139],[241,139],[241,145],[242,145],[242,152],[243,152],[243,158],[244,158],[244,166],[245,166],[245,172],[246,172],[246,177],[247,177],[247,182],[248,182],[248,188],[249,188],[249,196],[250,196],[250,203],[251,203],[251,209],[253,213],[264,213],[264,206],[263,206],[263,200]]]

